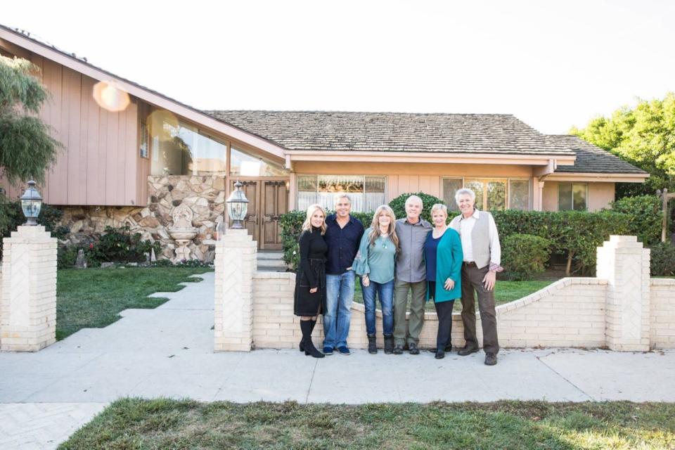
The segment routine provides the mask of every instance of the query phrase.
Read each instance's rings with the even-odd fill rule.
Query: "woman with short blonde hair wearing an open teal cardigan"
[[[448,208],[437,203],[431,208],[434,229],[424,243],[427,266],[427,300],[432,298],[438,316],[436,359],[450,351],[452,307],[462,296],[462,241],[459,233],[447,226]]]

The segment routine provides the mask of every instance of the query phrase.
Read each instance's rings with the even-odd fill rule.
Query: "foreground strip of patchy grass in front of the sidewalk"
[[[59,449],[673,449],[675,404],[120,399]]]

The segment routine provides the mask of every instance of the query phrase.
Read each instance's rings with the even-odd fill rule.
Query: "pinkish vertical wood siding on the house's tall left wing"
[[[135,98],[120,112],[109,112],[92,96],[96,80],[33,55],[38,77],[49,91],[40,117],[63,144],[56,164],[40,187],[51,205],[139,205],[147,203],[147,159],[139,156],[139,111]],[[24,186],[8,186],[10,198]]]

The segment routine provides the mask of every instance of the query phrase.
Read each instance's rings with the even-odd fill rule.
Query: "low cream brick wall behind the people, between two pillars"
[[[257,272],[253,278],[253,345],[255,348],[293,348],[300,342],[300,318],[293,315],[295,274]],[[563,278],[546,289],[496,308],[502,347],[603,347],[607,281]],[[457,302],[459,303],[459,302]],[[456,304],[456,311],[461,305]],[[382,312],[376,311],[378,346],[383,347]],[[438,319],[427,312],[420,347],[435,347]],[[480,315],[477,334],[482,345]],[[321,346],[321,320],[314,328],[314,343]],[[364,305],[352,304],[347,342],[368,347]],[[461,313],[453,314],[452,344],[463,347]]]

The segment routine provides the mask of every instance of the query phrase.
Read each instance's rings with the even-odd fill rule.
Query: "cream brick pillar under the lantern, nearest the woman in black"
[[[253,274],[257,244],[248,232],[228,229],[216,243],[214,351],[250,352],[253,343]]]

